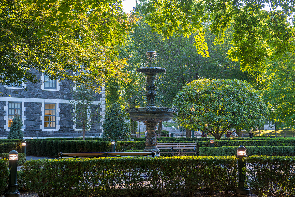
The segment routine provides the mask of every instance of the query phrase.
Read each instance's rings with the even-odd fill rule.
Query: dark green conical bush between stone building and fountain
[[[106,109],[102,129],[102,139],[110,141],[130,141],[130,124],[128,116],[118,102]]]

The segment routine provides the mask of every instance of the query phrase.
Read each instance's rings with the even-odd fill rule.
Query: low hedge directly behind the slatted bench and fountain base
[[[196,143],[196,152],[199,151],[199,148],[202,146],[209,146],[209,141],[158,141],[158,143],[189,143],[194,142]],[[125,150],[143,150],[145,149],[145,141],[130,141],[130,142],[120,142],[116,143],[116,152],[124,152]],[[193,150],[193,149],[192,149]],[[191,149],[183,149],[179,151],[192,151]],[[170,151],[169,148],[161,149],[163,152]]]

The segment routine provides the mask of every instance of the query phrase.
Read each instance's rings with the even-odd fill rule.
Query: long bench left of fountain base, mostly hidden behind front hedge
[[[124,157],[124,156],[134,156],[138,157],[152,155],[154,156],[154,152],[60,152],[58,153],[59,158],[94,158],[94,157]]]

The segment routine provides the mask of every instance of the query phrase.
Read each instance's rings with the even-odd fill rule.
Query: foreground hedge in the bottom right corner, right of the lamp
[[[244,160],[247,183],[253,193],[258,196],[295,196],[294,157],[250,156]]]

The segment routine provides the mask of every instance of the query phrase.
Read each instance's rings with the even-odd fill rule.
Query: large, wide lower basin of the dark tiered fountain
[[[176,111],[177,109],[168,107],[126,109],[126,113],[129,114],[130,119],[137,122],[165,122],[173,118],[173,114]]]

